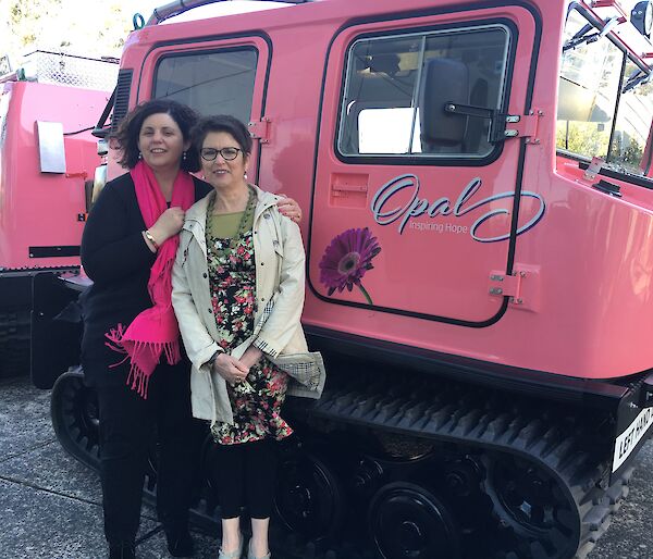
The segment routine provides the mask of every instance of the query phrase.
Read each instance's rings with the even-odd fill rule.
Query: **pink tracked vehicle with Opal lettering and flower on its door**
[[[160,97],[233,114],[250,178],[305,210],[329,381],[288,402],[278,555],[587,557],[653,425],[651,2],[208,3],[132,33],[112,126]],[[45,275],[38,299],[79,284]],[[36,310],[47,332],[60,308]],[[54,424],[93,465],[74,353],[35,380],[73,368]]]

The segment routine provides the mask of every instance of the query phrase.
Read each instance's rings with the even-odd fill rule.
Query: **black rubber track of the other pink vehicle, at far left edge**
[[[29,373],[29,312],[0,312],[0,378]]]

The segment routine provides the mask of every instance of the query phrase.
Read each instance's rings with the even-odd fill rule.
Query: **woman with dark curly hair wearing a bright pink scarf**
[[[174,557],[193,554],[190,367],[172,309],[171,275],[185,212],[211,191],[189,174],[200,166],[189,135],[196,122],[193,110],[170,100],[148,101],[125,116],[118,140],[128,172],[106,185],[82,238],[82,263],[94,281],[84,298],[82,363],[98,394],[112,559],[135,557],[155,433],[157,509],[168,549]],[[295,203],[288,208],[297,215]]]

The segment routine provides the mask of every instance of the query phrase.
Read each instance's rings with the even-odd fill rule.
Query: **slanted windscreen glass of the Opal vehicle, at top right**
[[[584,39],[584,40],[583,40]],[[605,167],[646,175],[653,116],[650,74],[572,10],[560,63],[556,146]]]

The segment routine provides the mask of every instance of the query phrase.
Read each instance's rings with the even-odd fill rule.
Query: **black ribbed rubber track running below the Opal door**
[[[576,548],[575,555],[556,559],[584,559],[628,495],[632,468],[611,487],[602,488],[606,464],[590,463],[589,455],[579,449],[577,440],[564,434],[569,430],[564,425],[552,425],[555,419],[542,420],[532,417],[532,411],[515,407],[506,410],[486,406],[480,398],[473,402],[475,398],[466,397],[465,389],[459,388],[444,388],[436,394],[429,394],[433,393],[432,385],[427,392],[403,386],[401,390],[389,393],[387,385],[385,389],[361,384],[356,388],[325,392],[305,411],[336,423],[354,423],[377,431],[509,452],[545,470],[557,481],[562,494],[570,499],[569,505],[581,519],[578,545],[570,543]],[[569,549],[568,545],[565,547]],[[529,549],[527,552],[523,549],[506,550],[503,557],[551,559],[537,539],[529,542]],[[315,557],[344,559],[353,556],[332,549]]]

